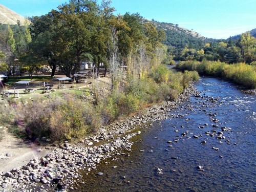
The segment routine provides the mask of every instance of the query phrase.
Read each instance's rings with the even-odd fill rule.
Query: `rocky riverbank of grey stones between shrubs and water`
[[[199,97],[199,92],[193,84],[175,101],[151,106],[143,115],[133,116],[106,127],[102,126],[97,134],[80,143],[70,144],[65,141],[59,146],[52,146],[47,156],[35,158],[22,167],[13,168],[10,172],[0,173],[0,190],[49,191],[53,187],[59,190],[72,190],[72,178],[79,177],[79,169],[87,169],[89,173],[106,158],[115,159],[117,155],[129,155],[134,144],[130,139],[141,134],[140,129],[152,126],[150,123],[153,121],[171,118],[169,112],[190,95]]]

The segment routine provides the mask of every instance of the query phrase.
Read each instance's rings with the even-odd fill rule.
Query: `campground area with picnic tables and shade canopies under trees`
[[[28,74],[23,76],[9,76],[8,80],[3,82],[0,87],[0,100],[6,99],[26,99],[47,96],[51,97],[61,93],[71,93],[82,95],[83,92],[92,93],[92,87],[100,87],[102,90],[108,89],[110,86],[109,77],[100,78],[86,77],[72,79],[66,77],[65,74],[55,73],[54,77],[50,77],[51,73],[38,73],[31,77]],[[80,93],[79,93],[80,92]],[[93,94],[92,94],[93,95]]]

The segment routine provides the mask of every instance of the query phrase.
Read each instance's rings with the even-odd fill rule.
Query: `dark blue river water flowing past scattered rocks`
[[[130,156],[81,172],[74,191],[256,191],[256,96],[216,78],[196,87],[202,97],[141,130]]]

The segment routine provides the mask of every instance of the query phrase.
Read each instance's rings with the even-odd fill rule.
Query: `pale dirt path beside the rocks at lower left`
[[[1,132],[4,136],[0,141],[0,173],[23,166],[35,157],[48,153],[45,147],[14,137],[7,127],[2,127]]]

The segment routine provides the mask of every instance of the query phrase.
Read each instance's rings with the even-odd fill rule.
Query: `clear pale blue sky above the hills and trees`
[[[0,0],[22,16],[46,14],[68,0]],[[101,2],[101,1],[98,1]],[[228,38],[256,28],[256,0],[112,0],[115,14],[178,24],[208,38]]]

